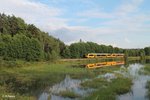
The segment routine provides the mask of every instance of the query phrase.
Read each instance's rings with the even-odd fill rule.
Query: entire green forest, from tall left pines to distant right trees
[[[128,56],[150,56],[150,47],[123,49],[79,42],[66,45],[60,39],[27,24],[14,15],[0,14],[0,59],[53,61],[59,58],[83,58],[87,53],[126,53]]]

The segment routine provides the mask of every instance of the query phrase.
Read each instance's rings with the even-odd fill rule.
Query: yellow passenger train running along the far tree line
[[[85,58],[120,58],[124,57],[123,53],[88,53],[84,55]]]

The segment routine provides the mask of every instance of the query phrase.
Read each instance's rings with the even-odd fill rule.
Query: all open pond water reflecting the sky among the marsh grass
[[[120,65],[119,71],[114,71],[114,73],[120,73],[124,77],[130,77],[132,78],[133,85],[131,87],[131,91],[118,95],[117,100],[147,100],[147,89],[146,89],[146,83],[148,80],[150,80],[150,76],[139,74],[139,71],[144,67],[144,64],[137,62],[130,62],[126,65]],[[122,69],[126,69],[123,70]],[[81,76],[82,77],[82,76]],[[99,75],[97,77],[104,77],[107,78],[107,80],[111,80],[115,78],[113,73],[105,73],[103,75]],[[88,80],[88,79],[86,79]],[[89,95],[92,91],[95,91],[91,88],[82,88],[81,83],[84,80],[79,79],[71,79],[69,76],[66,76],[66,78],[61,81],[58,84],[55,84],[54,86],[48,88],[46,91],[41,93],[38,96],[38,100],[80,100],[81,96],[84,97],[86,95]],[[60,92],[73,92],[74,97],[64,97],[64,95],[60,95]],[[63,93],[62,93],[63,94]]]

